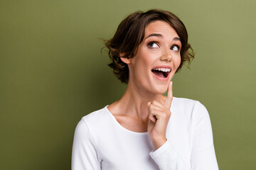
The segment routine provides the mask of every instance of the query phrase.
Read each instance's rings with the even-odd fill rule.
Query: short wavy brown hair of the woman
[[[190,64],[193,59],[193,49],[188,44],[188,33],[186,27],[181,20],[169,11],[163,11],[159,9],[152,9],[146,11],[137,11],[119,24],[117,32],[114,37],[110,40],[105,40],[105,46],[109,49],[108,55],[111,63],[108,64],[112,69],[117,78],[127,84],[129,81],[129,69],[127,64],[120,60],[120,53],[125,54],[122,57],[134,57],[136,55],[139,44],[144,39],[144,33],[146,26],[152,21],[166,21],[171,27],[176,30],[179,38],[181,38],[181,64],[179,65],[176,72],[178,72],[183,62]],[[190,50],[191,51],[188,51]]]

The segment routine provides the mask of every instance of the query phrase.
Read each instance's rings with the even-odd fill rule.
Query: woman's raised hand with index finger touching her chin
[[[173,99],[172,81],[168,86],[168,95],[164,104],[153,101],[149,102],[149,125],[148,132],[154,149],[158,149],[166,142],[166,128],[171,117],[171,101]]]

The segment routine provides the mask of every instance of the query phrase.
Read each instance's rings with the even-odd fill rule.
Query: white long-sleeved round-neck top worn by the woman
[[[122,127],[105,106],[78,123],[72,169],[218,169],[210,118],[200,102],[174,97],[166,139],[154,151],[147,132],[132,132]]]

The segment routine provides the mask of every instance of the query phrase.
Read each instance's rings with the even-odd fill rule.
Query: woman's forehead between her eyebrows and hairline
[[[152,33],[158,33],[164,36],[178,37],[176,30],[174,30],[174,28],[171,27],[170,24],[166,23],[165,21],[153,21],[149,23],[149,25],[145,28],[144,37],[146,38],[148,35]]]

